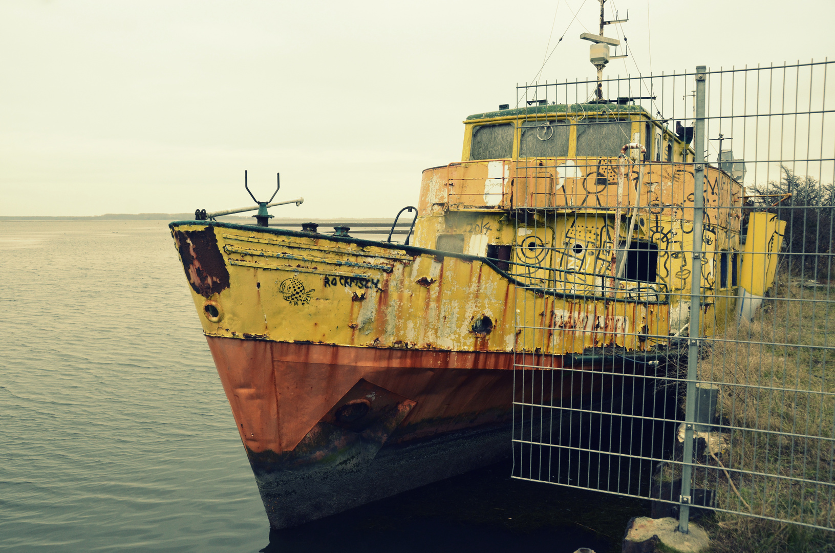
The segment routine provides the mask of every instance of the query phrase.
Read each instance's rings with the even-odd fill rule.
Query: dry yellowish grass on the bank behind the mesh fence
[[[781,285],[715,338],[699,379],[720,385],[729,445],[701,459],[696,487],[721,509],[835,527],[835,287]],[[716,551],[835,551],[832,531],[723,512],[712,525]]]

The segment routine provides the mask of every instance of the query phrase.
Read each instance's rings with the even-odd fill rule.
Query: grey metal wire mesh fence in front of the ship
[[[830,64],[518,88],[515,478],[835,529]]]

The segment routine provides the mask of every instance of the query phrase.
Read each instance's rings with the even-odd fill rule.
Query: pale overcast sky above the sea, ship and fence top
[[[822,60],[835,2],[609,0],[635,74]],[[569,26],[574,13],[577,18]],[[220,210],[394,216],[461,121],[540,79],[590,79],[596,0],[2,0],[0,215]],[[554,17],[555,16],[555,17]],[[566,29],[568,29],[566,31]],[[611,31],[610,31],[611,29]],[[651,43],[651,58],[650,58]]]

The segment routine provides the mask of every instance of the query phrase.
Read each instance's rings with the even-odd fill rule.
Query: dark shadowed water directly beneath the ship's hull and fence
[[[408,491],[340,515],[271,530],[262,553],[288,551],[620,551],[645,502],[510,479],[510,464]],[[592,530],[592,529],[595,530]]]

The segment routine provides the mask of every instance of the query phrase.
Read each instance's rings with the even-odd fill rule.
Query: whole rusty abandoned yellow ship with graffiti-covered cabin
[[[171,223],[271,527],[507,456],[514,354],[594,380],[584,352],[645,356],[681,331],[692,278],[716,296],[705,334],[762,295],[739,286],[768,267],[743,259],[744,190],[720,167],[688,266],[687,134],[634,103],[471,115],[462,160],[423,171],[411,244],[266,226],[266,202],[263,226]],[[535,308],[517,312],[522,295]],[[555,397],[595,387],[566,382]]]

